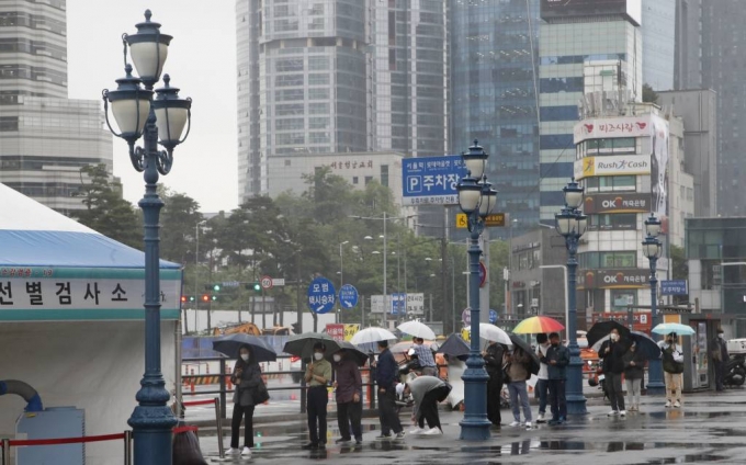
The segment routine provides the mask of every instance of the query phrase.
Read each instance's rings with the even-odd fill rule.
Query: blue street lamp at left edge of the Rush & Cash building
[[[580,237],[588,228],[588,217],[580,212],[584,189],[573,179],[563,190],[565,207],[554,215],[557,232],[565,238],[567,247],[567,413],[585,415],[586,398],[583,395],[583,360],[577,341],[577,252]]]

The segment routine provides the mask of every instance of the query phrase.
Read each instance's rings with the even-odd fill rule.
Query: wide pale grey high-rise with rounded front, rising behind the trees
[[[239,202],[284,190],[275,156],[445,154],[444,2],[237,0],[236,26]]]

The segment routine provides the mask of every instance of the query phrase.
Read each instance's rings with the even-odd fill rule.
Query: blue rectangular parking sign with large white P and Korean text
[[[466,167],[460,155],[406,158],[402,160],[404,204],[457,204],[456,184],[465,175]]]

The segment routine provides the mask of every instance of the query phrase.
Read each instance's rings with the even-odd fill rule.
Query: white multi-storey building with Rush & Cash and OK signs
[[[623,116],[588,117],[575,126],[575,179],[585,188],[588,231],[578,249],[578,308],[625,311],[651,305],[649,261],[643,254],[645,219],[663,222],[658,279],[668,276],[668,245],[683,246],[693,216],[694,182],[685,171],[683,124],[652,104]]]

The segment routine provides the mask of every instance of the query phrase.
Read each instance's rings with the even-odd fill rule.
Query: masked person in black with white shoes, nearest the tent
[[[230,421],[230,449],[227,454],[238,454],[238,438],[244,419],[244,449],[240,454],[251,455],[253,447],[253,408],[257,392],[264,382],[261,378],[261,368],[251,358],[251,348],[244,345],[239,349],[239,359],[236,361],[230,382],[236,386],[234,390],[234,413]]]

